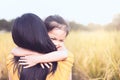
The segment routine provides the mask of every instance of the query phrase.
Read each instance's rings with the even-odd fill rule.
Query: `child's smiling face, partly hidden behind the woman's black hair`
[[[64,30],[54,28],[48,32],[48,35],[51,38],[52,42],[55,44],[57,50],[61,50],[62,46],[64,46],[66,32]]]

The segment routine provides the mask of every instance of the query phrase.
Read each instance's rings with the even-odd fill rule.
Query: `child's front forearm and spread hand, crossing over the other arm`
[[[39,55],[39,54],[29,55],[29,56],[21,57],[19,60],[19,64],[27,65],[24,68],[28,68],[38,63],[43,63],[40,64],[42,68],[44,68],[44,66],[50,68],[50,65],[52,65],[50,62],[64,60],[65,57],[67,57],[67,55],[65,55],[65,52],[62,51],[57,51],[57,53],[52,52],[45,55]]]

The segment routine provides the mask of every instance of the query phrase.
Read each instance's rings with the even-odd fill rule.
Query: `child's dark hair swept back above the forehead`
[[[47,27],[47,30],[48,32],[53,30],[54,28],[58,28],[58,26],[56,25],[51,25],[51,22],[56,22],[58,24],[61,24],[61,25],[65,25],[64,26],[60,26],[60,29],[62,27],[64,27],[64,31],[66,31],[66,36],[68,35],[69,31],[70,31],[70,26],[68,25],[68,23],[59,15],[50,15],[48,16],[45,20],[44,20],[44,23]]]

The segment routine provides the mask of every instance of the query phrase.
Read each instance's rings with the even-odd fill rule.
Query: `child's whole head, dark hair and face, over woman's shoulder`
[[[68,24],[61,16],[58,15],[48,16],[44,22],[47,27],[49,37],[55,44],[57,50],[60,50],[70,30]]]

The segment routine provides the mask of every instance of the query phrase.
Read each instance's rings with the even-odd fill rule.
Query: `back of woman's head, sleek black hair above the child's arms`
[[[44,22],[32,13],[24,14],[14,21],[12,37],[19,47],[39,52],[49,52],[46,46],[52,44]]]

